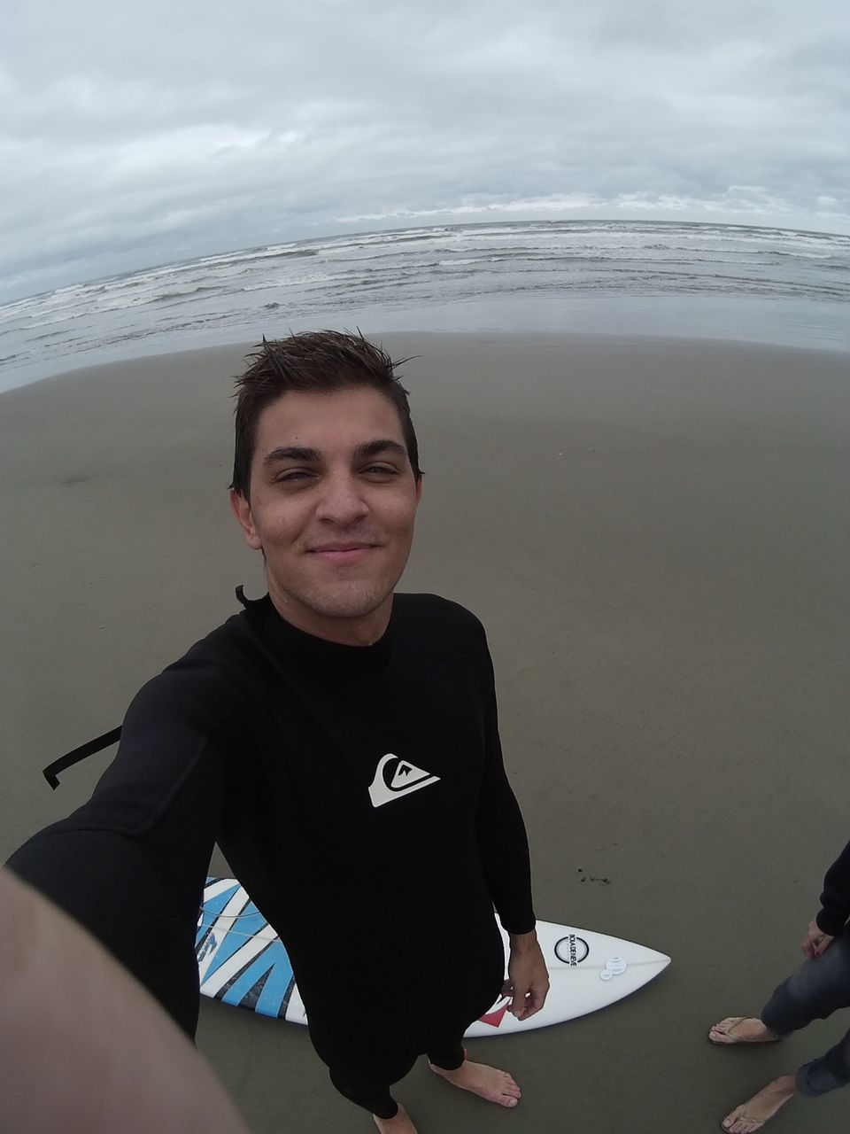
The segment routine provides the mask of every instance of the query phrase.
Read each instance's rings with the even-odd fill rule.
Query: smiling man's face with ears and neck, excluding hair
[[[260,416],[250,503],[231,492],[245,539],[265,552],[287,621],[363,644],[386,627],[422,482],[396,407],[373,389],[282,395]]]

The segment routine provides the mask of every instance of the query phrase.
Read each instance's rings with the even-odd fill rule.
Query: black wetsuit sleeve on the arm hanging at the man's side
[[[483,632],[482,632],[483,633]],[[502,760],[499,739],[493,663],[484,643],[485,666],[485,764],[476,832],[484,868],[499,920],[508,933],[529,933],[535,926],[532,904],[532,865],[528,837]]]

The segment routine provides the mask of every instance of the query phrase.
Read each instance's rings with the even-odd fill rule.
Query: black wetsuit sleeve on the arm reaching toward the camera
[[[222,795],[216,729],[186,682],[136,696],[92,798],[9,868],[88,930],[193,1035],[195,926]]]

